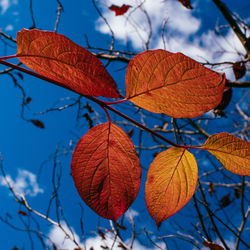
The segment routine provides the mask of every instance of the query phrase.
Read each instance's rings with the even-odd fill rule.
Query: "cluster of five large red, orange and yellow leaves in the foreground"
[[[131,139],[111,122],[109,104],[130,101],[150,112],[193,118],[218,107],[226,89],[224,74],[181,53],[150,50],[130,61],[126,97],[107,103],[95,97],[122,96],[101,61],[88,50],[63,35],[36,29],[18,32],[17,46],[16,57],[43,79],[96,101],[106,111],[108,122],[91,128],[77,143],[71,169],[81,198],[111,220],[117,220],[135,200],[141,167]],[[249,143],[231,134],[214,134],[200,147],[165,141],[173,147],[155,157],[145,184],[146,205],[157,226],[195,192],[198,167],[188,149],[206,150],[228,171],[250,175]]]

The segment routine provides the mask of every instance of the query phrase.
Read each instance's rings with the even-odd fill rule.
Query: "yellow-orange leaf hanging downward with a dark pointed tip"
[[[189,202],[197,180],[197,163],[189,151],[170,148],[156,156],[148,170],[145,199],[158,227]]]

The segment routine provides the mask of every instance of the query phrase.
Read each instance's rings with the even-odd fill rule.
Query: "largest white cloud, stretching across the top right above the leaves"
[[[131,42],[134,49],[144,50],[148,38],[147,17],[142,9],[136,9],[142,0],[127,0],[132,6],[123,16],[115,16],[108,7],[112,4],[121,6],[123,0],[102,0],[100,7],[103,15],[114,31],[115,37],[126,44]],[[223,37],[213,30],[201,33],[201,20],[193,16],[193,12],[184,8],[178,1],[145,0],[142,7],[147,11],[152,25],[150,49],[164,48],[161,28],[165,26],[165,48],[171,52],[182,52],[199,62],[224,62],[241,60],[245,54],[244,48],[232,30]],[[104,34],[110,34],[108,26],[99,18],[96,29]],[[199,35],[196,35],[199,32]],[[248,36],[249,34],[247,34]],[[225,72],[228,79],[234,79],[231,66],[216,68]]]

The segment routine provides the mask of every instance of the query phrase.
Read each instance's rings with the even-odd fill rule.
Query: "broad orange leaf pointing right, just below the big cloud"
[[[126,73],[128,100],[154,113],[193,118],[221,101],[225,76],[193,59],[165,50],[135,56]]]

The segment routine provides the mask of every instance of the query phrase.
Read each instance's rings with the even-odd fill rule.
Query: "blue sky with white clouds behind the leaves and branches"
[[[73,3],[72,3],[73,2]],[[141,52],[145,50],[145,41],[148,38],[148,24],[142,11],[134,11],[131,8],[125,16],[116,17],[108,7],[111,4],[130,4],[134,6],[140,1],[132,0],[118,0],[109,1],[102,0],[99,3],[99,8],[102,10],[103,15],[108,20],[112,27],[115,37],[115,48],[130,51]],[[152,20],[152,39],[149,43],[150,49],[164,48],[160,31],[163,18],[167,15],[168,21],[166,26],[167,42],[165,48],[171,52],[180,51],[192,58],[205,62],[215,61],[235,61],[242,59],[244,50],[239,43],[238,39],[234,36],[233,32],[226,30],[223,36],[218,36],[214,33],[216,24],[225,24],[223,17],[218,15],[218,11],[215,6],[208,0],[196,0],[192,5],[194,10],[190,11],[185,9],[178,1],[145,1],[143,7]],[[74,42],[85,46],[84,34],[88,36],[89,43],[94,47],[109,48],[111,38],[109,29],[103,20],[98,16],[95,11],[92,1],[62,1],[64,11],[61,15],[59,23],[58,33],[64,34]],[[243,8],[245,1],[227,1],[228,6],[238,11],[238,13],[249,21],[249,7]],[[56,21],[56,0],[44,0],[34,1],[33,11],[36,27],[43,30],[54,30]],[[202,6],[202,8],[201,8]],[[197,8],[196,8],[197,7]],[[134,11],[134,12],[133,12]],[[29,1],[24,0],[0,0],[0,29],[12,37],[16,37],[17,31],[22,28],[30,28],[32,26],[32,19],[30,14]],[[166,15],[160,15],[161,13],[167,13]],[[179,15],[176,15],[179,13]],[[126,16],[131,17],[126,19]],[[135,31],[135,26],[137,30]],[[121,28],[122,27],[122,28]],[[15,43],[8,42],[10,46],[5,46],[0,41],[0,56],[12,55],[16,53]],[[223,52],[224,51],[224,52]],[[222,53],[223,52],[223,53]],[[229,53],[230,52],[230,53]],[[15,62],[15,61],[13,61]],[[118,87],[124,93],[124,76],[126,64],[124,63],[111,63],[108,66],[108,71],[116,80]],[[0,67],[0,71],[4,67]],[[123,70],[121,70],[123,69]],[[227,73],[229,79],[234,80],[231,69],[228,66],[217,67],[215,70],[223,71]],[[86,207],[79,198],[77,191],[74,187],[71,175],[70,175],[70,162],[72,149],[81,136],[83,136],[88,130],[87,121],[82,118],[77,120],[77,107],[65,109],[63,111],[47,112],[41,114],[52,107],[61,107],[77,100],[78,96],[65,89],[57,86],[53,86],[50,83],[42,80],[35,79],[34,77],[24,75],[24,79],[13,73],[18,80],[18,83],[23,86],[26,97],[31,97],[32,101],[25,108],[25,117],[27,119],[41,120],[45,129],[35,127],[32,123],[27,122],[20,117],[22,93],[19,88],[14,86],[14,83],[10,76],[0,75],[0,152],[3,157],[3,167],[7,174],[8,180],[14,185],[16,190],[26,195],[27,200],[31,206],[40,211],[41,213],[47,212],[48,201],[52,196],[52,175],[53,166],[56,162],[56,174],[61,176],[59,198],[64,210],[65,217],[68,223],[72,226],[78,241],[80,239],[80,223],[79,218],[81,215],[81,207],[83,206],[83,222],[84,231],[87,233],[88,239],[86,244],[89,248],[93,244],[100,245],[100,236],[96,236],[92,232],[97,227],[104,228],[109,227],[109,222],[99,218],[88,207]],[[249,76],[245,77],[245,80],[249,79]],[[243,79],[244,80],[244,79]],[[234,92],[234,99],[244,97],[245,91],[238,90]],[[240,107],[245,112],[246,96],[240,103]],[[86,101],[82,101],[82,105],[85,105]],[[95,104],[91,103],[91,106],[98,112],[93,116],[96,116],[97,123],[105,122],[106,117],[102,110],[100,110]],[[229,106],[230,109],[231,106]],[[118,108],[118,107],[117,107]],[[118,109],[124,110],[123,105]],[[83,113],[82,115],[84,114]],[[126,110],[128,113],[132,113],[130,110]],[[147,114],[147,112],[145,112]],[[207,116],[212,116],[208,113]],[[115,116],[112,116],[116,119]],[[150,119],[135,115],[138,121],[145,119],[148,125],[154,127],[157,126],[159,119]],[[237,119],[237,116],[235,116]],[[169,120],[168,120],[169,122]],[[228,120],[222,119],[220,125],[208,127],[210,133],[221,132],[223,130],[230,131],[232,122],[228,123]],[[129,130],[129,127],[123,127],[125,131]],[[134,143],[137,144],[138,131],[135,131],[135,135],[132,138]],[[173,135],[168,135],[168,138],[173,139]],[[191,140],[191,139],[190,139]],[[155,145],[150,136],[144,133],[143,143],[145,145]],[[58,152],[58,156],[55,158],[55,152]],[[143,151],[141,154],[141,165],[143,168],[148,168],[152,161],[152,153]],[[210,166],[210,162],[207,156],[201,155],[198,161],[200,166]],[[217,164],[217,163],[216,163]],[[219,164],[217,164],[219,166]],[[202,173],[201,169],[201,173]],[[56,176],[57,176],[56,175]],[[144,186],[146,178],[146,171],[143,171]],[[239,180],[240,177],[232,177],[234,180]],[[148,215],[145,201],[144,201],[144,187],[141,187],[141,191],[134,202],[129,213],[134,217],[137,229],[146,227],[148,230],[156,231],[153,220]],[[222,197],[225,191],[221,191],[219,196]],[[23,221],[26,218],[18,215],[19,205],[15,203],[13,197],[11,197],[6,183],[0,175],[0,195],[1,195],[1,211],[0,216],[7,218],[10,222],[14,223],[18,227],[24,227]],[[54,212],[55,203],[53,202],[50,216],[56,219]],[[193,203],[190,202],[183,210],[182,213],[173,216],[174,218],[163,223],[159,232],[159,235],[164,235],[170,228],[175,227],[175,221],[179,223],[190,223],[192,220]],[[235,208],[237,209],[237,208]],[[189,217],[189,215],[191,216]],[[8,217],[11,215],[11,217]],[[52,225],[48,225],[48,222],[40,220],[35,217],[41,223],[41,227],[45,233],[47,233],[53,241],[60,247],[74,249],[71,241],[65,240],[64,235],[60,230],[56,229]],[[235,215],[235,220],[238,219]],[[25,223],[32,223],[25,221]],[[62,222],[66,228],[66,224]],[[129,225],[127,223],[127,225]],[[183,225],[185,226],[185,225]],[[170,230],[171,231],[171,230]],[[11,249],[14,246],[22,249],[32,249],[31,241],[24,232],[18,232],[8,227],[6,224],[0,222],[0,242],[3,249]],[[71,232],[70,232],[71,233]],[[107,237],[109,235],[107,234]],[[129,241],[131,237],[130,233],[124,234],[125,239]],[[139,238],[140,239],[140,238]],[[146,242],[145,238],[141,237],[135,242],[135,249],[148,249],[147,246],[143,246]],[[230,235],[227,239],[230,241]],[[40,249],[41,244],[38,239],[34,237],[33,244],[35,249]],[[111,242],[111,241],[110,241]],[[103,244],[103,242],[102,242]],[[110,243],[107,243],[110,244]],[[162,245],[164,248],[164,246]],[[186,245],[190,247],[190,245]],[[42,248],[41,248],[42,249]],[[98,249],[98,248],[94,248]],[[101,249],[101,248],[100,248]],[[152,247],[149,249],[153,249]],[[192,249],[190,247],[190,249]],[[243,248],[242,248],[243,249]]]

